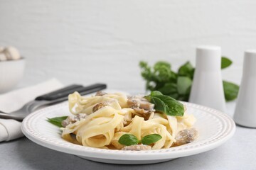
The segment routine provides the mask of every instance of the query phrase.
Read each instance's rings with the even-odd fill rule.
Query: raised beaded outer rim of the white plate
[[[59,152],[65,152],[68,154],[75,154],[79,157],[84,157],[86,159],[90,159],[96,162],[105,162],[105,163],[111,163],[111,164],[150,164],[150,163],[156,163],[156,162],[164,162],[171,159],[175,159],[178,157],[186,157],[193,154],[199,154],[201,152],[206,152],[210,149],[214,149],[220,145],[222,145],[224,142],[230,139],[235,133],[235,123],[232,118],[230,118],[229,115],[222,113],[220,111],[217,111],[213,108],[208,108],[206,106],[201,106],[194,103],[188,103],[183,102],[186,104],[187,107],[191,107],[193,109],[198,109],[201,111],[207,111],[210,114],[213,114],[213,116],[216,116],[216,118],[219,118],[220,120],[225,120],[225,123],[228,123],[229,129],[227,134],[223,137],[220,137],[220,139],[215,140],[213,142],[197,146],[195,143],[190,143],[188,145],[182,145],[180,147],[171,147],[170,149],[159,149],[159,150],[150,150],[150,151],[120,151],[120,150],[110,150],[110,149],[97,149],[92,147],[83,147],[80,145],[75,145],[70,142],[66,142],[60,137],[60,142],[68,143],[71,147],[67,147],[64,145],[57,145],[53,141],[49,140],[48,137],[43,136],[42,134],[38,134],[37,132],[33,131],[33,127],[29,127],[29,123],[33,122],[38,116],[46,115],[47,113],[51,111],[58,111],[59,109],[63,107],[68,108],[68,103],[60,103],[54,106],[49,106],[47,108],[43,108],[39,111],[36,111],[34,113],[31,113],[28,115],[22,123],[21,130],[23,134],[28,137],[29,140],[36,142],[38,145],[41,145],[43,147],[48,147],[49,149],[53,149]],[[206,113],[207,113],[206,112]],[[222,118],[222,117],[223,118]],[[213,138],[214,139],[214,138]],[[196,147],[195,147],[196,146]],[[112,152],[113,151],[113,152]],[[144,156],[144,157],[142,157]],[[140,163],[141,162],[141,163]]]

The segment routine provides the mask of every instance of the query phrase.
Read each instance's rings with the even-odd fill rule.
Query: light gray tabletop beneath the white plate
[[[228,104],[232,115],[235,103]],[[146,165],[102,164],[37,145],[26,137],[0,143],[0,169],[256,169],[256,130],[237,126],[220,147],[169,162]]]

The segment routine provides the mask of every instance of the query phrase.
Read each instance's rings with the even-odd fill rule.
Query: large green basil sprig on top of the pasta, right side
[[[181,102],[161,94],[160,91],[152,91],[149,96],[145,96],[146,100],[154,103],[154,109],[166,115],[183,116],[184,106]]]

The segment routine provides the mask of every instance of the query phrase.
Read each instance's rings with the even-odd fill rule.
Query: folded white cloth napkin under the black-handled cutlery
[[[0,111],[11,113],[21,108],[28,101],[33,100],[36,96],[47,94],[63,87],[57,79],[50,79],[35,86],[29,86],[23,89],[11,91],[0,95]],[[11,119],[0,119],[0,142],[14,140],[22,137],[21,122]]]

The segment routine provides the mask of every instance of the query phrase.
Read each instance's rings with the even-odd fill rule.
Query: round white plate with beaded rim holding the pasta
[[[212,108],[199,106],[193,103],[184,103],[188,113],[193,113],[197,121],[195,128],[199,132],[196,141],[170,149],[149,151],[122,151],[83,147],[63,140],[60,130],[46,121],[46,118],[70,115],[68,103],[44,108],[28,115],[22,123],[22,131],[28,139],[38,145],[75,154],[78,157],[111,164],[150,164],[165,162],[178,157],[206,152],[222,145],[235,132],[235,123],[228,115]]]

